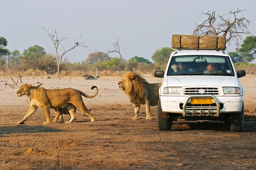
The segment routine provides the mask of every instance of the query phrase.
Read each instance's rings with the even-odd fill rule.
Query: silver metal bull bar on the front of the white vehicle
[[[188,104],[188,100],[191,99],[191,98],[212,98],[214,100],[215,104],[216,104],[216,107],[217,107],[217,108],[216,107],[215,108],[212,108],[212,107],[204,107],[204,108],[198,108],[198,107],[194,107],[193,108],[192,107],[192,108],[189,108],[189,110],[193,110],[193,116],[195,115],[195,110],[199,110],[200,115],[202,116],[203,109],[208,109],[208,116],[209,116],[211,109],[212,110],[216,110],[217,109],[216,110],[216,116],[220,117],[220,103],[218,102],[217,98],[215,96],[213,96],[212,94],[200,94],[200,95],[198,95],[198,94],[191,94],[191,95],[189,95],[186,98],[186,100],[185,100],[185,102],[184,102],[184,104],[182,106],[182,109],[183,109],[182,115],[183,115],[183,117],[185,117],[186,114],[187,114],[187,108],[186,107],[187,107],[187,104]],[[204,110],[204,111],[206,111],[206,110]]]

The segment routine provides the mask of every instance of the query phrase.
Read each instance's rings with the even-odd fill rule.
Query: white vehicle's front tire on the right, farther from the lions
[[[244,103],[240,113],[233,114],[230,117],[230,130],[233,132],[244,131]]]

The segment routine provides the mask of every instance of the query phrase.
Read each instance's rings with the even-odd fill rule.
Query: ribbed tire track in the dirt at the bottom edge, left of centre
[[[62,170],[62,169],[71,170],[69,149],[62,148],[59,151],[59,154],[58,154],[57,157],[58,157],[58,166],[56,167],[56,169],[58,169],[58,170]]]

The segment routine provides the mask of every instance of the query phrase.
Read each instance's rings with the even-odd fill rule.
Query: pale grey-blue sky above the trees
[[[54,54],[53,43],[40,27],[56,28],[60,36],[68,37],[63,44],[65,49],[82,34],[81,41],[85,41],[89,52],[75,48],[65,55],[70,62],[85,60],[96,48],[112,49],[115,37],[121,39],[120,51],[125,59],[139,56],[152,61],[156,49],[171,47],[172,34],[192,34],[195,23],[206,18],[199,15],[202,11],[228,14],[237,6],[245,9],[250,31],[256,35],[255,0],[0,0],[0,6],[0,36],[8,40],[11,51],[18,49],[22,53],[38,44]],[[231,42],[226,51],[235,48]]]

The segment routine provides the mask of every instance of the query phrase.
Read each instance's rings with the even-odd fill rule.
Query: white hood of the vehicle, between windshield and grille
[[[182,86],[222,86],[236,87],[233,76],[167,76],[168,87]]]

